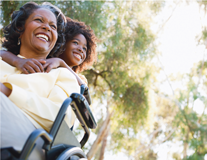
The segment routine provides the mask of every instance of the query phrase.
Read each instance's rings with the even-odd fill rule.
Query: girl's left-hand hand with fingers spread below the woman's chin
[[[20,58],[18,61],[15,61],[14,65],[25,74],[44,72],[43,65],[46,63],[45,60],[37,59],[23,59]]]

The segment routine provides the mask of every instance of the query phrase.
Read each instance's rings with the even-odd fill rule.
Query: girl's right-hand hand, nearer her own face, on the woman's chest
[[[60,58],[49,58],[46,59],[46,63],[43,65],[43,68],[45,70],[45,72],[50,72],[51,69],[55,69],[58,67],[65,67],[67,68],[65,65],[63,65],[63,60]]]

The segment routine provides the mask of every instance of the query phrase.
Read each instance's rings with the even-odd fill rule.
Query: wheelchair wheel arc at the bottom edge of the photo
[[[85,153],[79,147],[69,147],[56,160],[87,160]]]

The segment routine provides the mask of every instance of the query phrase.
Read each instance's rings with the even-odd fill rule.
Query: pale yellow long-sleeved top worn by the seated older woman
[[[16,67],[0,60],[0,82],[12,89],[8,98],[34,126],[46,131],[51,129],[63,101],[71,93],[80,93],[75,76],[66,68],[52,69],[49,73],[21,74]],[[65,120],[72,127],[75,114],[71,107]]]

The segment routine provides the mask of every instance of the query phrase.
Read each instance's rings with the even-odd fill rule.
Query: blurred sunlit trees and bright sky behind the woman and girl
[[[26,2],[0,2],[1,40]],[[207,160],[207,2],[49,2],[99,39],[97,62],[82,73],[98,122],[88,159]]]

